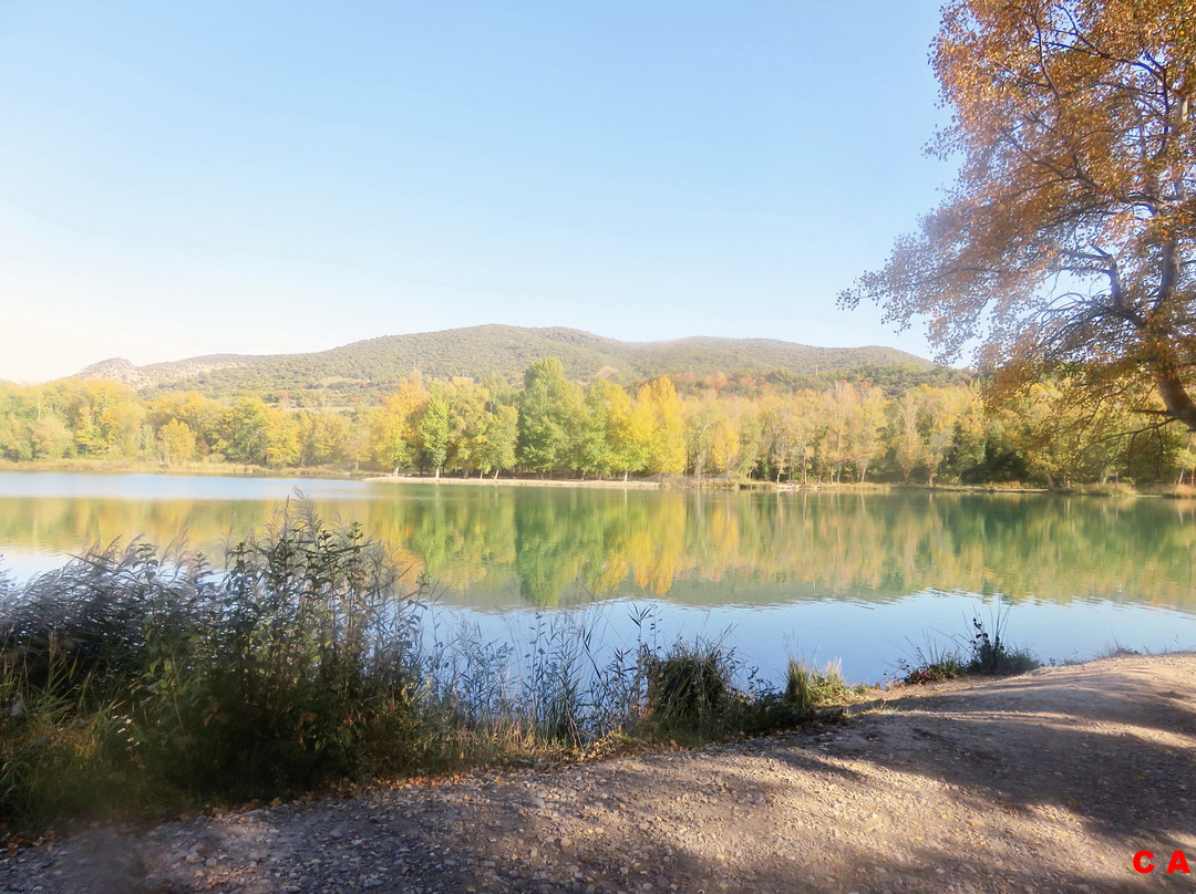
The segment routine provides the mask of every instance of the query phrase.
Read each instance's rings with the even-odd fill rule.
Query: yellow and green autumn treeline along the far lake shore
[[[0,455],[324,466],[429,474],[683,476],[776,482],[1160,482],[1196,469],[1188,435],[1067,379],[987,404],[958,371],[660,376],[586,386],[560,361],[523,387],[413,373],[379,406],[297,408],[196,391],[144,399],[104,380],[0,382]]]

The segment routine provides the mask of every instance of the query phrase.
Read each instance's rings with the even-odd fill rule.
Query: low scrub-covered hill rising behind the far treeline
[[[771,338],[682,338],[620,342],[575,329],[487,325],[440,332],[384,336],[313,354],[213,354],[136,367],[105,360],[79,373],[115,379],[138,391],[197,388],[208,392],[274,392],[328,388],[334,392],[386,390],[411,369],[426,376],[498,375],[515,381],[536,360],[554,356],[566,373],[586,381],[610,375],[622,382],[661,374],[696,378],[751,371],[819,371],[899,366],[919,372],[934,363],[893,348],[814,348]]]

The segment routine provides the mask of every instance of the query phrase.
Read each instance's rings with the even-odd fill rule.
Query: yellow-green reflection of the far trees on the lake
[[[219,556],[295,484],[325,515],[392,544],[441,599],[478,608],[640,595],[694,606],[885,602],[945,590],[1196,613],[1196,506],[1155,498],[4,473],[0,552],[19,571],[30,557],[185,533]]]

